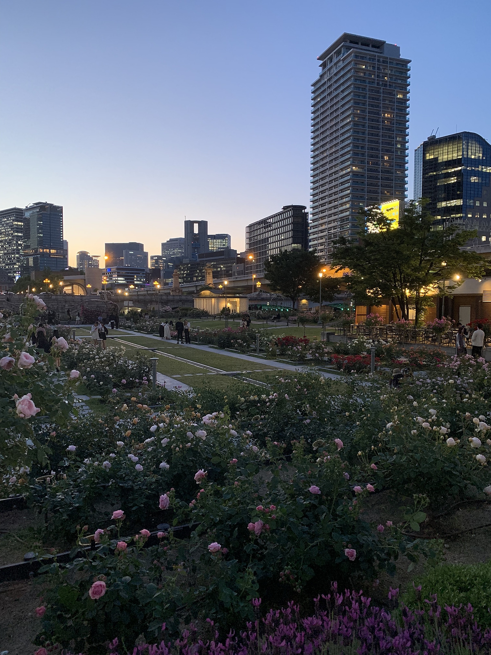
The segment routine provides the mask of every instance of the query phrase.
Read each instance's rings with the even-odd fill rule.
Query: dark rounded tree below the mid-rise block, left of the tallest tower
[[[293,303],[293,309],[304,286],[314,279],[319,257],[307,250],[282,250],[264,262],[264,274],[272,291],[280,291]]]

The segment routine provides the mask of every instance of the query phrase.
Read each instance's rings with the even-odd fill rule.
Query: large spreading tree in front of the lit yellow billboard
[[[378,208],[360,212],[358,242],[341,238],[333,263],[348,268],[348,290],[359,305],[378,305],[390,299],[399,320],[409,320],[415,309],[418,325],[431,296],[443,293],[443,282],[464,276],[481,277],[486,260],[475,252],[461,250],[475,231],[458,225],[435,229],[435,218],[425,210],[426,201],[411,201],[391,229]],[[461,284],[455,280],[455,286]]]

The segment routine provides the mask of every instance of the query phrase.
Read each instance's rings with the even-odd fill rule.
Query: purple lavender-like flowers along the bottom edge
[[[95,584],[95,583],[94,583]],[[166,624],[161,626],[162,641],[155,646],[141,645],[143,655],[265,655],[285,653],[488,653],[491,631],[481,629],[474,620],[473,607],[439,605],[437,597],[426,600],[421,610],[399,605],[399,589],[390,589],[385,607],[377,607],[363,591],[338,591],[314,599],[316,612],[302,617],[299,607],[289,603],[282,610],[269,610],[264,618],[248,622],[238,633],[220,634],[210,620],[201,629],[190,626],[179,639],[169,641]],[[253,601],[260,614],[261,599]],[[398,607],[399,606],[399,607]],[[397,609],[396,609],[397,608]],[[219,641],[222,639],[222,641]],[[114,639],[108,646],[111,655],[130,655]],[[281,649],[281,650],[280,650]],[[132,651],[131,651],[132,652]],[[45,655],[45,653],[39,653]],[[47,655],[47,654],[46,654]]]

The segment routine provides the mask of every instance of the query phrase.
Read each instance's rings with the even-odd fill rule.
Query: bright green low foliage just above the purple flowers
[[[422,599],[437,594],[438,604],[464,607],[470,603],[477,623],[491,627],[491,562],[482,564],[442,564],[420,578],[422,589],[409,588],[405,602],[410,608],[424,609]]]

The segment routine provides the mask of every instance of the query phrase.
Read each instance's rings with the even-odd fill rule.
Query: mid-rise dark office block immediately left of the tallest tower
[[[247,225],[246,274],[262,275],[264,261],[282,250],[308,250],[308,212],[305,205],[285,205],[278,214]]]

